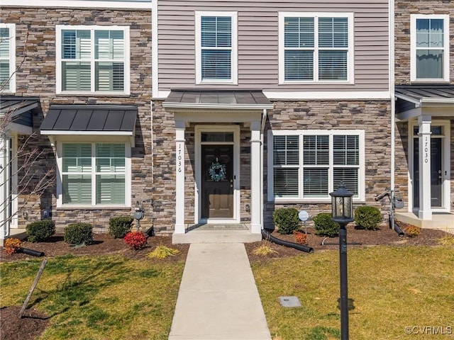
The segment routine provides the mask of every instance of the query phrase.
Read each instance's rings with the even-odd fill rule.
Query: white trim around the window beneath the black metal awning
[[[90,143],[92,144],[92,157],[94,153],[94,149],[96,149],[95,145],[97,143],[116,143],[120,144],[123,143],[125,145],[125,204],[124,205],[114,205],[114,204],[96,204],[96,195],[95,188],[96,186],[92,186],[92,204],[63,204],[63,175],[62,175],[62,144],[64,143]],[[74,135],[68,135],[65,137],[60,137],[60,139],[56,142],[56,150],[57,150],[57,209],[121,209],[121,208],[131,208],[131,193],[132,193],[132,186],[131,186],[131,144],[128,141],[122,141],[121,137],[119,136],[108,136],[108,137],[98,137],[94,138],[84,138],[84,141],[81,141],[80,138],[75,137]],[[92,162],[94,162],[92,160]],[[92,163],[93,164],[93,163]],[[93,170],[92,175],[95,174]],[[92,179],[93,180],[93,179]]]

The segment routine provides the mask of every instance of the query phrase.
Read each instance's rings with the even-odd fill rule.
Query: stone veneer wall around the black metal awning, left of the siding
[[[116,104],[138,106],[135,126],[135,147],[131,149],[132,197],[134,204],[150,200],[153,192],[153,161],[151,133],[151,12],[144,10],[84,9],[84,8],[2,8],[0,20],[16,23],[16,95],[40,97],[41,110],[35,110],[34,130],[38,137],[29,147],[43,150],[38,163],[45,173],[48,166],[55,168],[55,149],[47,136],[39,136],[39,127],[50,104]],[[131,95],[130,96],[77,96],[55,94],[55,25],[129,26],[131,45]],[[22,217],[19,227],[40,219],[41,208],[51,208],[52,220],[57,227],[71,222],[91,222],[95,231],[106,231],[109,218],[116,215],[132,215],[130,208],[123,210],[56,210],[55,186],[43,196],[19,198],[19,205],[26,203],[28,220]],[[39,203],[39,204],[38,204]],[[145,218],[140,222],[143,229],[152,224],[150,202],[145,202]]]

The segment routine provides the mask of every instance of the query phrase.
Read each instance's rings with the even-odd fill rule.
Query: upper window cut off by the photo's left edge
[[[0,23],[0,92],[16,91],[16,27]]]

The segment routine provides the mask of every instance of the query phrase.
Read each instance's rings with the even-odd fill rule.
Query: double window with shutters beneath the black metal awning
[[[126,205],[125,143],[61,145],[62,205]]]

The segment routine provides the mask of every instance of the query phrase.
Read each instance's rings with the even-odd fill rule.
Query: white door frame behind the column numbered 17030
[[[418,215],[419,207],[414,206],[414,127],[418,126],[417,121],[409,122],[408,128],[408,146],[409,146],[409,212],[415,212]],[[431,126],[443,127],[443,135],[431,135],[432,138],[439,138],[442,140],[442,154],[441,166],[443,167],[442,173],[444,174],[443,184],[441,186],[441,200],[440,208],[432,208],[432,212],[450,212],[450,120],[432,120]]]

